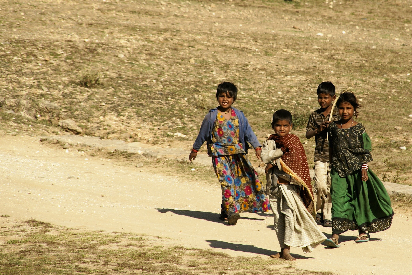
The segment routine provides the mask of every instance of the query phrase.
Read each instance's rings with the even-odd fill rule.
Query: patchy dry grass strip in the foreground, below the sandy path
[[[173,246],[149,235],[75,230],[35,219],[3,225],[2,274],[332,274],[299,270],[283,260]]]

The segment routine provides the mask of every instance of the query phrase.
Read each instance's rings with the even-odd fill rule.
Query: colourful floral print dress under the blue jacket
[[[222,187],[222,208],[226,213],[265,212],[269,200],[258,174],[239,143],[239,120],[234,110],[227,120],[220,112],[212,130],[208,153]]]

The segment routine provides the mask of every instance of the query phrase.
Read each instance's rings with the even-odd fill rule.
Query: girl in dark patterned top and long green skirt
[[[361,123],[353,120],[361,106],[352,92],[338,101],[340,120],[328,129],[332,171],[332,238],[325,242],[339,247],[339,234],[358,230],[356,242],[368,242],[369,233],[388,229],[393,210],[382,181],[368,168],[372,161],[371,140]]]

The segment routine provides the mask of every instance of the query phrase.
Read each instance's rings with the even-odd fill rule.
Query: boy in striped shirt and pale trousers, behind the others
[[[316,222],[325,227],[332,227],[332,199],[330,198],[329,141],[326,139],[330,122],[339,120],[337,109],[332,112],[335,101],[335,86],[332,82],[322,82],[318,86],[320,109],[311,113],[306,127],[306,138],[315,136],[315,185]],[[332,112],[332,116],[329,116]]]

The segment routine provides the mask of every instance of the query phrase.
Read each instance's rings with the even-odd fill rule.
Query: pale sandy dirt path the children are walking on
[[[1,214],[35,218],[73,228],[170,237],[187,247],[237,256],[267,257],[279,251],[269,214],[242,214],[236,226],[218,220],[216,183],[181,180],[124,167],[99,157],[66,153],[38,138],[0,138]],[[412,221],[397,211],[391,228],[356,244],[345,233],[342,247],[320,245],[311,254],[293,248],[297,267],[337,274],[411,274]],[[325,234],[330,228],[321,227]],[[328,235],[329,236],[329,235]]]

